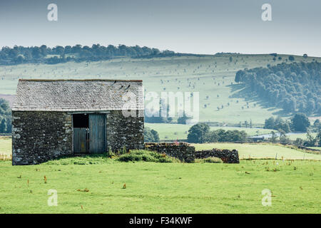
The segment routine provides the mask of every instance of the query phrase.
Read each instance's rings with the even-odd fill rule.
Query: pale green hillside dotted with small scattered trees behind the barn
[[[270,55],[220,55],[1,66],[0,94],[14,94],[19,78],[143,79],[146,93],[155,91],[161,95],[162,91],[199,92],[200,121],[238,124],[251,119],[253,125],[262,125],[265,118],[278,110],[256,102],[247,103],[244,98],[239,98],[236,94],[240,87],[234,83],[235,72],[243,68],[275,65],[288,57],[280,56],[281,61],[273,61]],[[309,62],[312,59],[295,56],[295,61]],[[222,105],[223,109],[217,110]]]

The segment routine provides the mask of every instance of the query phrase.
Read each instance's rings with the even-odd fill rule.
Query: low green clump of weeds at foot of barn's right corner
[[[126,155],[119,156],[117,160],[121,162],[178,162],[174,157],[149,150],[131,150]]]

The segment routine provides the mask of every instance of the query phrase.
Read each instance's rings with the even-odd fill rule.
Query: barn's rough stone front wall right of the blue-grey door
[[[143,149],[144,147],[144,118],[143,114],[137,117],[125,117],[122,111],[107,113],[107,150],[117,151],[126,146],[126,149]]]

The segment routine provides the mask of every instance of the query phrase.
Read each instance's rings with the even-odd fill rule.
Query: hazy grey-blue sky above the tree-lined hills
[[[48,21],[47,6],[58,6]],[[261,6],[272,6],[263,21]],[[320,0],[0,1],[0,46],[139,45],[181,53],[321,56]]]

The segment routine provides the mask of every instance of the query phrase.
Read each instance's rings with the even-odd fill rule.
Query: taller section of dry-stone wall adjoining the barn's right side
[[[165,155],[170,157],[176,157],[182,162],[194,162],[195,160],[195,147],[186,142],[146,142],[145,148],[146,150],[165,153]]]

